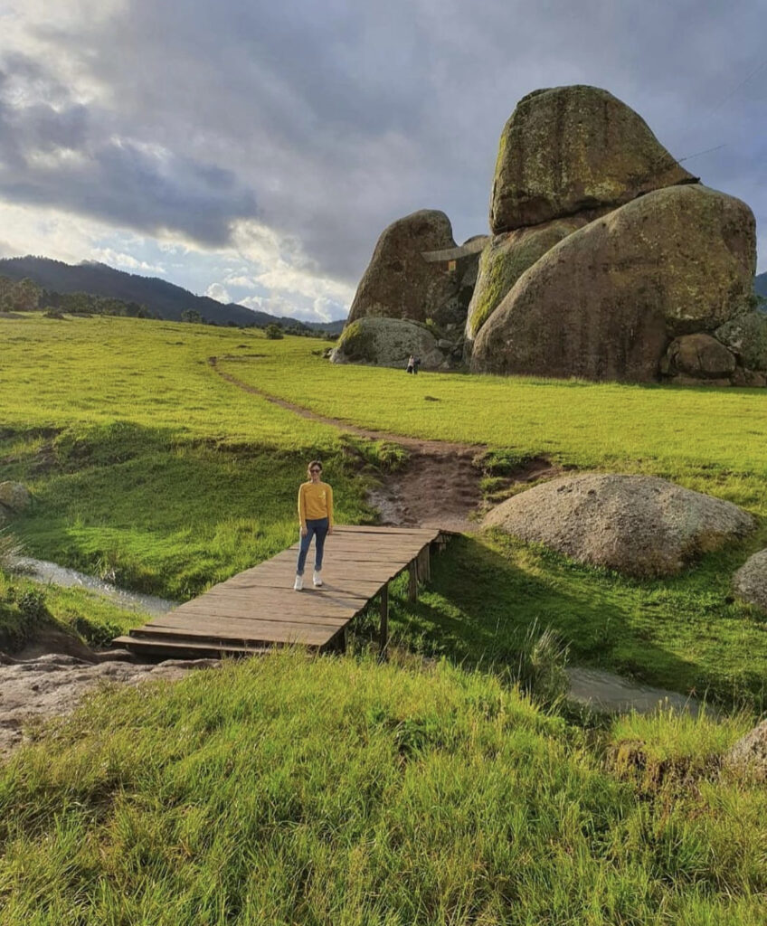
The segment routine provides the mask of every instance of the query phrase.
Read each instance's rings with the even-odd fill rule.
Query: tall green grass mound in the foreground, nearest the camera
[[[95,696],[0,770],[0,922],[757,926],[765,820],[492,676],[287,653]]]

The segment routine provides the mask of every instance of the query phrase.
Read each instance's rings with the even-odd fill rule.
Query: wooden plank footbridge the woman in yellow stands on
[[[409,569],[409,598],[430,575],[430,549],[448,534],[434,528],[334,527],[325,542],[321,588],[295,592],[298,544],[245,569],[114,643],[158,657],[247,656],[273,645],[343,651],[349,622],[381,595],[381,646],[388,641],[388,583]]]

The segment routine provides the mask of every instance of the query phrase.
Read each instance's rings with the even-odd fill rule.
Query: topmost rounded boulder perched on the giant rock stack
[[[695,181],[633,109],[576,85],[522,97],[501,134],[490,206],[494,233],[622,206]]]

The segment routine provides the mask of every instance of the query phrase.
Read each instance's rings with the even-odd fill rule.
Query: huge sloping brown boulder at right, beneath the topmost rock
[[[676,335],[751,299],[755,221],[700,185],[635,199],[555,244],[484,323],[472,370],[650,382]]]

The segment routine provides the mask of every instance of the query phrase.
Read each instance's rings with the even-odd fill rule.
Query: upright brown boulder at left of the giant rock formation
[[[421,209],[398,219],[384,230],[375,245],[348,320],[434,319],[462,324],[468,297],[464,296],[461,314],[461,281],[448,271],[446,262],[432,263],[422,257],[430,251],[456,247],[450,219],[444,212]]]

